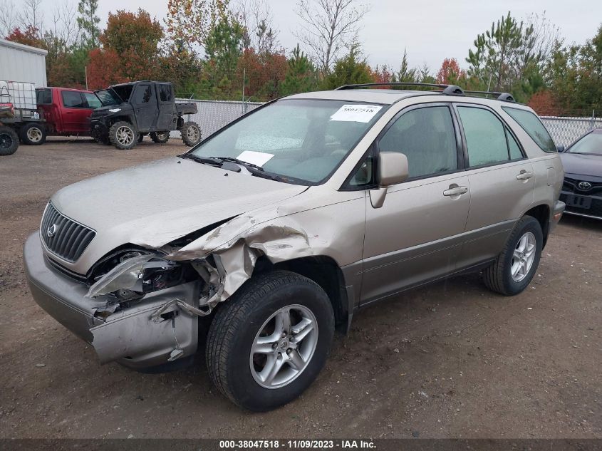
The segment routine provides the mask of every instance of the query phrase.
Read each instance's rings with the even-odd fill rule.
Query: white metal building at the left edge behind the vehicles
[[[46,55],[43,48],[0,39],[0,80],[46,86]]]

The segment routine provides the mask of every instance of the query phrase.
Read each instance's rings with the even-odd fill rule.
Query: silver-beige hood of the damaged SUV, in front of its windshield
[[[90,252],[102,256],[126,243],[162,247],[306,189],[171,157],[83,180],[58,191],[51,202],[95,229],[90,247],[103,249]]]

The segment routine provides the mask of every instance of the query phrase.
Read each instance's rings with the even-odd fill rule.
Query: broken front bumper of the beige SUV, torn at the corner
[[[111,306],[115,309],[113,296],[85,297],[87,285],[46,262],[37,232],[25,243],[24,264],[36,303],[90,343],[100,363],[118,361],[142,369],[196,353],[198,318],[194,309],[199,307],[202,281],[155,291],[111,312]]]

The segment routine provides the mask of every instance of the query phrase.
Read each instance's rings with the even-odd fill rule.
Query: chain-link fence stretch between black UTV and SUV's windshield
[[[263,103],[258,102],[234,102],[229,100],[196,100],[177,98],[176,103],[196,103],[197,114],[188,116],[185,120],[193,120],[201,128],[204,138],[216,132],[224,125],[231,123],[234,119],[244,115],[247,111],[254,110]],[[172,132],[172,135],[180,135],[180,132]]]

